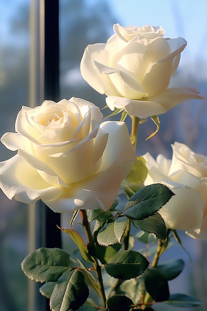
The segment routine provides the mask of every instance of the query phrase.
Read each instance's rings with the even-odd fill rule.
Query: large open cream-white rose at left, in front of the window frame
[[[55,212],[109,209],[136,161],[124,122],[102,122],[94,104],[72,97],[23,106],[1,142],[18,153],[0,162],[0,188],[24,203],[38,199]]]

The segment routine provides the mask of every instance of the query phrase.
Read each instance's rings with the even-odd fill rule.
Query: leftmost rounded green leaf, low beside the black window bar
[[[59,248],[39,248],[21,263],[26,276],[36,282],[56,282],[71,264],[69,254]]]

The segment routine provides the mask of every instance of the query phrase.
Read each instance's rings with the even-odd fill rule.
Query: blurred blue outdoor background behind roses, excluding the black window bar
[[[17,112],[22,105],[40,105],[34,80],[36,68],[31,62],[39,46],[37,39],[41,0],[0,1],[0,136],[14,132]],[[60,99],[72,96],[105,106],[104,95],[98,94],[81,78],[80,60],[88,44],[106,42],[113,34],[113,24],[122,26],[161,25],[166,37],[184,37],[188,45],[182,52],[174,86],[197,88],[207,98],[207,2],[203,0],[60,0]],[[38,41],[38,40],[37,40]],[[54,46],[54,49],[57,49]],[[41,78],[41,75],[39,75]],[[33,86],[31,86],[31,84]],[[40,91],[40,90],[38,90]],[[47,98],[50,99],[50,98]],[[107,109],[106,109],[107,110]],[[103,113],[109,114],[109,110]],[[207,100],[186,101],[160,116],[160,131],[148,120],[140,126],[138,155],[149,152],[171,157],[170,144],[185,143],[207,156]],[[0,161],[13,156],[0,145]],[[40,311],[37,301],[28,299],[29,281],[20,263],[32,250],[32,222],[29,207],[8,200],[0,192],[0,310]],[[35,230],[35,228],[33,228]],[[38,229],[36,234],[38,235]],[[166,252],[165,259],[183,258],[185,270],[170,282],[171,293],[194,295],[207,304],[207,242],[182,234],[183,244],[192,257],[179,246]],[[168,306],[156,310],[175,310]],[[177,308],[177,310],[183,310]],[[188,309],[185,309],[188,310]],[[205,311],[207,306],[195,311]],[[42,310],[44,311],[44,310]]]

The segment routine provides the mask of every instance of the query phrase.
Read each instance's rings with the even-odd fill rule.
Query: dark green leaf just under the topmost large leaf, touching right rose
[[[154,233],[161,240],[167,237],[165,222],[157,212],[143,220],[133,220],[132,223],[138,229],[148,233]]]

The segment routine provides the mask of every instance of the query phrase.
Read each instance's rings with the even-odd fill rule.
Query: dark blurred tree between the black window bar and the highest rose
[[[107,1],[60,0],[61,97],[72,96],[105,106],[105,96],[92,89],[80,75],[80,60],[88,44],[106,42],[116,18]]]

